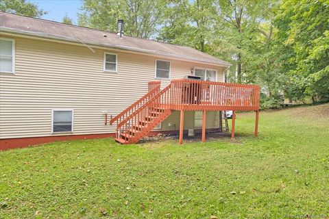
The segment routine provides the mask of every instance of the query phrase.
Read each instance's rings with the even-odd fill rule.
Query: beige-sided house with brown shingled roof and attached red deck
[[[0,149],[116,135],[136,142],[134,124],[143,136],[216,130],[220,110],[259,110],[258,86],[223,83],[230,65],[190,47],[0,13]],[[193,75],[201,79],[186,79]],[[247,103],[232,101],[243,95]]]

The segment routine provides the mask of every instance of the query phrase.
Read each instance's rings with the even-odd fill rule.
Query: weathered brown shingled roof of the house
[[[139,53],[163,55],[218,66],[232,65],[223,60],[219,60],[217,57],[202,53],[191,47],[183,47],[176,44],[132,36],[123,36],[123,38],[119,38],[117,34],[101,31],[99,29],[66,25],[40,18],[30,18],[27,16],[19,16],[3,12],[0,12],[0,32],[1,31],[40,38],[85,43],[94,46],[97,45],[99,47],[136,51]],[[104,37],[104,34],[106,37]]]

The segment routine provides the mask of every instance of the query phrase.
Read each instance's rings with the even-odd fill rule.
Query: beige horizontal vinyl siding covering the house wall
[[[93,53],[83,45],[14,39],[15,74],[0,73],[0,138],[51,136],[51,110],[59,109],[74,110],[73,134],[112,133],[115,127],[104,125],[103,111],[119,114],[147,92],[148,81],[158,80],[154,78],[157,57],[108,49],[93,49]],[[118,55],[117,73],[103,72],[104,52]],[[200,66],[170,61],[171,79]],[[221,81],[223,68],[217,69],[217,81]],[[162,86],[169,82],[162,80]],[[187,129],[193,112],[186,112],[184,119]],[[179,112],[167,120],[173,120],[178,129]],[[163,130],[174,129],[164,124]]]

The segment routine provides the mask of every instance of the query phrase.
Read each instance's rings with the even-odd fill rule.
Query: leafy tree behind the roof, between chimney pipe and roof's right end
[[[213,0],[179,0],[167,4],[158,40],[206,51],[215,23]]]

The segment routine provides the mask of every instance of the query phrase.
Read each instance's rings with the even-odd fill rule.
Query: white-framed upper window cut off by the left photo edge
[[[14,40],[0,38],[0,73],[14,73]]]

